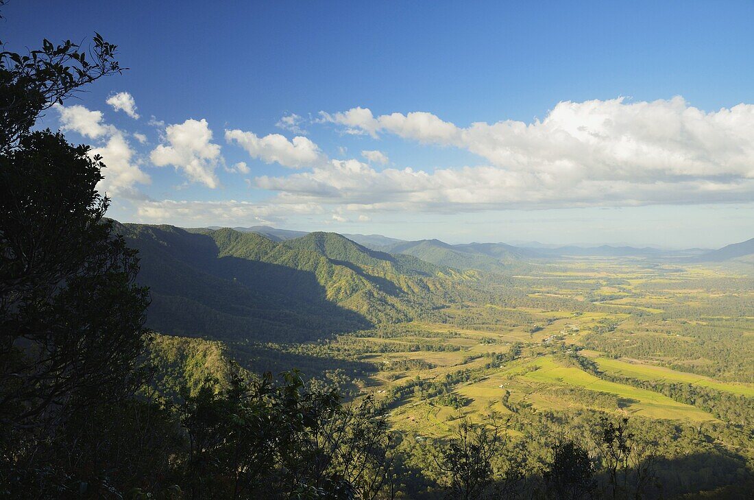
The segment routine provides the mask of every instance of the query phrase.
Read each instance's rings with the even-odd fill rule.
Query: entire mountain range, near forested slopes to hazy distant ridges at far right
[[[540,259],[663,255],[652,248],[532,250],[381,235],[346,238],[267,226],[118,224],[118,232],[139,250],[138,281],[152,295],[148,326],[180,336],[211,331],[225,341],[302,341],[410,321],[424,311],[478,296],[481,292],[471,284],[480,272],[514,271]],[[750,254],[754,239],[694,259],[721,262]]]

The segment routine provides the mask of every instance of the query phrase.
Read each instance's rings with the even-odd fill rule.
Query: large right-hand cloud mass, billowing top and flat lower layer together
[[[354,108],[322,120],[348,133],[394,134],[466,149],[487,164],[374,170],[332,161],[311,172],[259,177],[280,196],[354,210],[488,210],[689,204],[754,199],[754,105],[703,112],[681,97],[558,103],[532,123],[458,127],[425,112],[374,116]],[[366,153],[366,152],[365,152]],[[364,157],[374,163],[373,158]]]

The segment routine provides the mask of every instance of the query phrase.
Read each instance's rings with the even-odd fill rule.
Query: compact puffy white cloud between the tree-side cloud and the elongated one
[[[219,186],[215,169],[222,160],[220,146],[212,142],[212,130],[207,120],[189,118],[182,124],[168,125],[165,140],[167,145],[161,144],[152,150],[150,158],[155,165],[173,165],[195,183],[208,188]]]

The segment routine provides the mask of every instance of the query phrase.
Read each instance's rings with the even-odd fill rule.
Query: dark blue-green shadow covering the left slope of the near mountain
[[[329,302],[313,272],[219,257],[209,235],[157,229],[129,245],[139,250],[137,280],[152,293],[147,325],[161,333],[301,342],[372,326]]]

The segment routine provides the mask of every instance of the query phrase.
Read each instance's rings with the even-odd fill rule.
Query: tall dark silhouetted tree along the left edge
[[[45,40],[0,54],[0,483],[17,498],[80,490],[56,440],[139,385],[149,299],[136,253],[103,219],[105,165],[31,130],[44,109],[120,72],[114,54],[100,35],[88,53]]]

